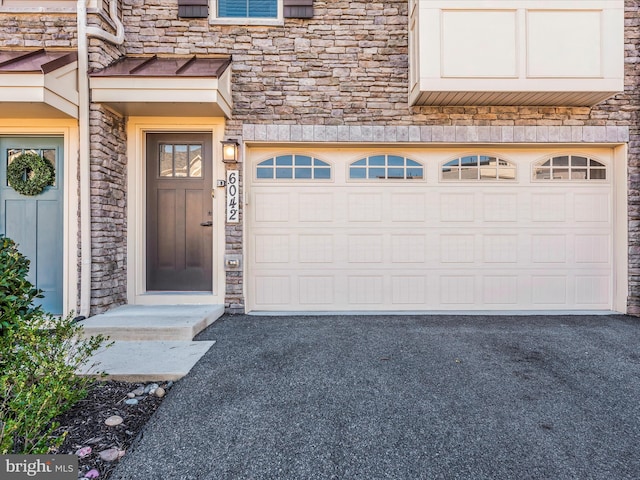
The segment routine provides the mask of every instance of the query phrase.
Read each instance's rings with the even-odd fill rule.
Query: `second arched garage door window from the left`
[[[422,164],[399,155],[372,155],[349,166],[351,180],[418,180],[424,178]]]

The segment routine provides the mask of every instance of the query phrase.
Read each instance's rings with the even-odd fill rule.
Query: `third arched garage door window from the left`
[[[443,180],[515,180],[516,166],[489,155],[466,155],[442,165]]]

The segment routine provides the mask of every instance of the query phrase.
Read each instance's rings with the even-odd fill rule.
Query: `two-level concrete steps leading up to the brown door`
[[[184,377],[215,341],[193,337],[224,314],[222,305],[124,305],[82,322],[85,336],[113,342],[80,372],[128,382]]]

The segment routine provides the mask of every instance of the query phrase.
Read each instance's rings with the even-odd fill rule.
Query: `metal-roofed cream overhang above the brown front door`
[[[231,116],[230,57],[124,57],[90,74],[91,100],[127,116]]]

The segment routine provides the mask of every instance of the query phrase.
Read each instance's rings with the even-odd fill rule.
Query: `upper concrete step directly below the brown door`
[[[190,341],[224,314],[222,305],[124,305],[81,322],[84,336],[115,341]]]

